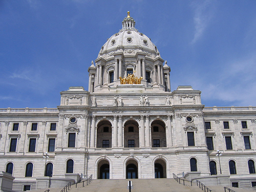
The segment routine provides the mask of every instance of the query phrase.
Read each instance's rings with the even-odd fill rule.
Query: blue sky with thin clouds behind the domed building
[[[0,108],[56,108],[131,12],[205,106],[256,106],[256,1],[0,1]]]

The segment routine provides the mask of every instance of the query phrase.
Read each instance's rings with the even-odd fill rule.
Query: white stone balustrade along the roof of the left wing
[[[57,108],[25,108],[25,109],[15,109],[7,108],[0,109],[1,113],[59,113]]]

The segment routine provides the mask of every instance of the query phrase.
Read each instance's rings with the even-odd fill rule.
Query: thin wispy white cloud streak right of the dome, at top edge
[[[212,1],[195,1],[191,5],[194,10],[194,25],[195,25],[195,33],[194,38],[191,41],[194,44],[204,33],[206,27],[208,26],[212,16]]]

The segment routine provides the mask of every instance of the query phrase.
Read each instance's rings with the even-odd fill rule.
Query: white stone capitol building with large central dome
[[[89,64],[88,89],[60,92],[54,109],[0,109],[0,178],[14,191],[173,173],[256,186],[256,107],[205,107],[201,91],[171,90],[171,63],[129,12],[121,27]]]

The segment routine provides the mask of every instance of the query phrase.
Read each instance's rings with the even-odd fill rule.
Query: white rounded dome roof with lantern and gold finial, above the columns
[[[135,29],[135,21],[130,17],[129,12],[127,17],[123,19],[122,29],[105,42],[101,47],[98,58],[110,59],[114,57],[115,53],[120,52],[122,52],[124,56],[132,56],[136,55],[137,52],[143,52],[146,54],[146,57],[152,59],[157,55],[160,56],[157,47],[153,44],[151,39]]]

